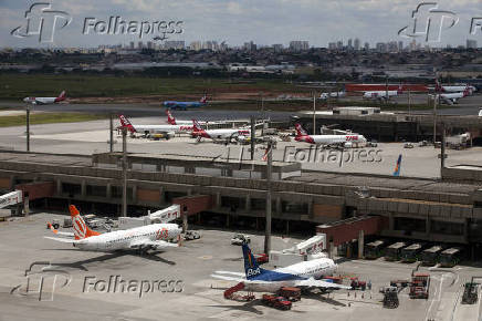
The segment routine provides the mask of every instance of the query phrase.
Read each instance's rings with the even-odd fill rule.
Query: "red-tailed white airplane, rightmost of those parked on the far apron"
[[[295,124],[296,142],[304,142],[314,145],[325,146],[343,146],[352,147],[353,143],[366,143],[367,139],[363,135],[358,134],[345,134],[345,135],[308,135],[307,132],[300,124]]]

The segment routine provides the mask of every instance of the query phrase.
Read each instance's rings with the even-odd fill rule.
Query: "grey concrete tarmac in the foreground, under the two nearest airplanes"
[[[0,222],[0,320],[478,320],[481,300],[462,306],[462,284],[480,268],[455,266],[451,269],[420,268],[431,275],[428,300],[400,294],[398,309],[381,306],[380,287],[394,279],[409,279],[416,263],[387,262],[383,258],[337,260],[337,273],[370,281],[371,290],[340,290],[329,294],[314,291],[294,302],[291,311],[264,307],[256,300],[226,300],[224,289],[233,282],[210,277],[216,270],[243,271],[241,248],[230,244],[233,231],[201,230],[202,237],[185,241],[181,247],[144,257],[135,252],[86,252],[69,244],[43,238],[52,236],[46,221],[62,216],[33,214],[13,221]],[[191,227],[192,228],[192,227]],[[260,252],[263,236],[253,235],[251,247]],[[273,237],[273,249],[289,248],[297,238]],[[27,292],[25,270],[30,279]],[[264,266],[270,268],[269,266]],[[43,278],[41,296],[39,284]],[[56,276],[54,279],[53,276]],[[115,280],[145,284],[154,281],[179,281],[181,291],[153,288],[124,290]],[[105,284],[111,286],[105,288]],[[102,283],[104,281],[104,283]],[[348,283],[348,279],[345,279]],[[103,288],[104,284],[104,288]],[[154,284],[154,283],[153,283]],[[146,286],[147,287],[147,286]],[[147,289],[145,287],[145,289]]]

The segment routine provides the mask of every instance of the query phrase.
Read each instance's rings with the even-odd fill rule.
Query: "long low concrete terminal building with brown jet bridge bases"
[[[129,154],[128,214],[181,205],[190,221],[264,229],[265,162]],[[301,170],[273,163],[273,230],[312,235],[336,229],[335,246],[376,235],[470,246],[482,244],[481,168],[444,168],[443,179]],[[31,208],[120,213],[122,154],[93,156],[8,152],[0,154],[0,190],[21,189]],[[354,221],[355,220],[355,221]],[[329,234],[329,230],[327,232]]]

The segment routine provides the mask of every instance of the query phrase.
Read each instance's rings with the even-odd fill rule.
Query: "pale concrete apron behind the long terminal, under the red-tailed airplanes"
[[[136,117],[134,124],[163,123],[158,117]],[[114,126],[118,125],[116,120]],[[108,120],[84,123],[44,124],[31,126],[31,151],[54,154],[105,153],[109,151]],[[0,128],[0,148],[25,151],[25,128],[23,126]],[[114,151],[122,149],[122,137],[115,133]],[[402,155],[400,176],[440,177],[440,149],[433,146],[404,148],[402,143],[380,143],[377,147],[349,148],[343,153],[337,149],[316,149],[305,143],[279,142],[273,153],[274,161],[300,162],[303,169],[328,173],[360,173],[392,175],[399,155]],[[209,139],[197,143],[187,135],[169,141],[128,138],[127,151],[132,153],[178,154],[209,157],[229,157],[247,159],[250,146],[214,144]],[[243,149],[243,151],[242,151]],[[364,152],[363,152],[364,151]],[[482,148],[472,147],[462,151],[447,149],[446,166],[480,165]],[[365,154],[366,153],[366,154]],[[368,156],[371,154],[373,157]],[[258,146],[254,159],[261,159],[264,149]]]

